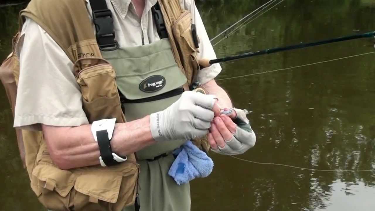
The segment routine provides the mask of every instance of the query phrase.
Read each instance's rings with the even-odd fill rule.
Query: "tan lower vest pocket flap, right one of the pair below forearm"
[[[90,198],[116,203],[123,176],[108,173],[96,171],[80,175],[75,181],[74,189]]]

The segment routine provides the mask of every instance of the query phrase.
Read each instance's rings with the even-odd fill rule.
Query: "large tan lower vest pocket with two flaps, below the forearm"
[[[118,166],[62,170],[53,164],[45,144],[41,146],[31,188],[47,209],[120,211],[134,202],[138,176],[134,156]]]

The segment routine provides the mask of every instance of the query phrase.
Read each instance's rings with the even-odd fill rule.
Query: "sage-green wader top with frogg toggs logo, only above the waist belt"
[[[187,79],[178,68],[167,38],[129,48],[103,51],[116,70],[121,104],[127,121],[166,109],[180,98]],[[176,116],[176,118],[178,118]],[[171,152],[186,140],[159,142],[138,151],[138,160]]]

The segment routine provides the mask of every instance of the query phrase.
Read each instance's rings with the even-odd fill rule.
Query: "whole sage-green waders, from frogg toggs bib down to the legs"
[[[102,56],[116,70],[127,121],[166,109],[183,92],[182,86],[187,79],[174,60],[168,39],[102,51]],[[190,210],[189,184],[177,185],[168,175],[174,161],[171,151],[184,142],[186,140],[159,142],[136,152],[140,165],[138,191],[141,211]],[[133,209],[130,206],[124,211]]]

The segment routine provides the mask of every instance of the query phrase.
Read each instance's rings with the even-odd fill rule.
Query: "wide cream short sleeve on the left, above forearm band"
[[[27,19],[18,46],[20,78],[14,127],[41,130],[41,124],[74,127],[88,124],[73,63],[37,23]]]

